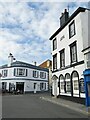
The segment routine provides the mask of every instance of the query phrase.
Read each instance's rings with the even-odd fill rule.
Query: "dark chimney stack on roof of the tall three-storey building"
[[[60,17],[60,27],[66,23],[68,18],[69,18],[69,13],[67,12],[67,9],[65,9],[64,13],[62,13]]]

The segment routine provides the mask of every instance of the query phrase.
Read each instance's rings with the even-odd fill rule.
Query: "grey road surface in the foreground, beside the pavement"
[[[87,115],[45,101],[44,94],[5,95],[2,118],[87,118]]]

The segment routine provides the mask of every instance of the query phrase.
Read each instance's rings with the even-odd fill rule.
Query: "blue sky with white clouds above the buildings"
[[[87,2],[0,1],[0,66],[12,53],[17,61],[41,64],[51,59],[50,36],[60,27],[60,16],[70,15]]]

